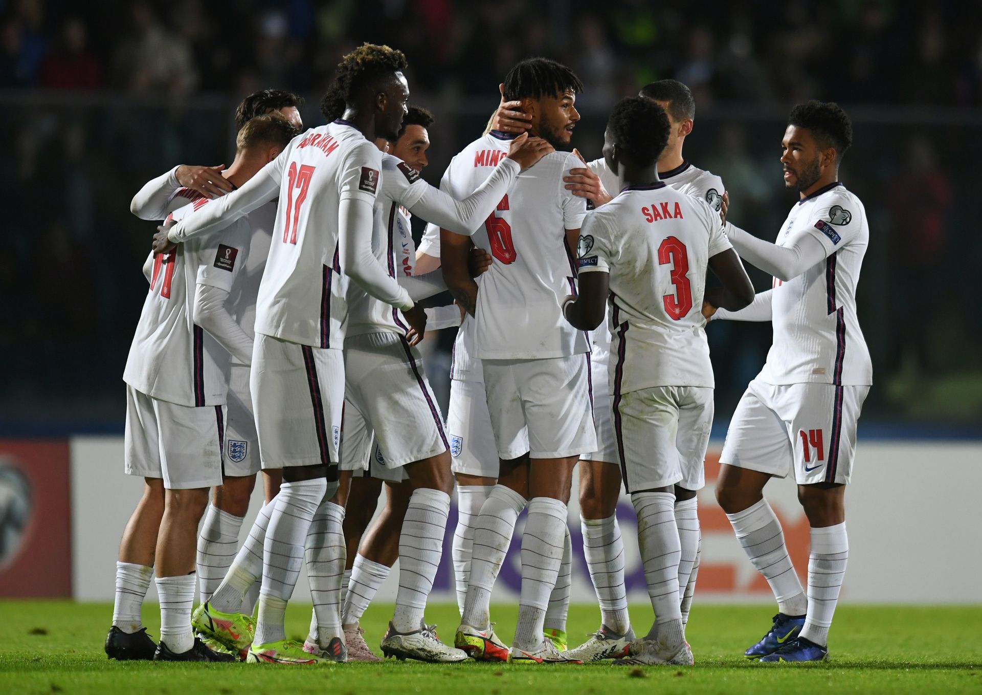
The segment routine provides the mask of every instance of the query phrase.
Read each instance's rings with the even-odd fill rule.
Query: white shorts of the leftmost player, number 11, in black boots
[[[223,436],[224,405],[178,405],[127,384],[124,460],[131,476],[161,478],[167,490],[221,485]]]

